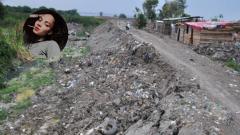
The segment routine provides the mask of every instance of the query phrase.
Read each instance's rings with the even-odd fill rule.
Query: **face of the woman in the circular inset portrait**
[[[51,33],[55,19],[51,14],[39,15],[39,19],[35,22],[33,33],[37,36],[44,37]]]

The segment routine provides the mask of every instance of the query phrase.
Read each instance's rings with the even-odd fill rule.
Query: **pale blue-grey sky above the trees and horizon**
[[[4,5],[30,7],[52,7],[55,9],[77,9],[82,15],[134,14],[135,7],[142,7],[144,0],[3,0]],[[160,9],[165,0],[159,0]],[[186,13],[206,19],[223,14],[225,20],[240,20],[240,0],[187,0]]]

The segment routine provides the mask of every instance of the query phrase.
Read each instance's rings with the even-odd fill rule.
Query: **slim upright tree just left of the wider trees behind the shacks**
[[[158,5],[158,0],[145,0],[143,3],[143,11],[148,19],[154,20],[156,19],[155,8]]]

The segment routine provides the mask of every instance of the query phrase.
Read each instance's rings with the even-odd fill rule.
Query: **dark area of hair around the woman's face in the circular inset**
[[[54,26],[52,28],[52,34],[46,35],[44,40],[54,40],[58,43],[60,50],[62,50],[68,40],[68,28],[64,19],[54,10],[50,9],[41,9],[33,14],[51,14],[54,19]],[[33,33],[33,26],[35,22],[39,19],[39,17],[29,17],[24,23],[23,31],[24,31],[24,42],[25,44],[31,44],[39,42],[39,38],[36,34]]]

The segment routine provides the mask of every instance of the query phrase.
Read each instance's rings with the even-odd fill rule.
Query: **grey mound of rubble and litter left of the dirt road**
[[[112,23],[86,43],[70,38],[69,48],[54,66],[56,83],[39,89],[31,107],[1,125],[2,134],[222,135],[231,124],[196,78]]]

